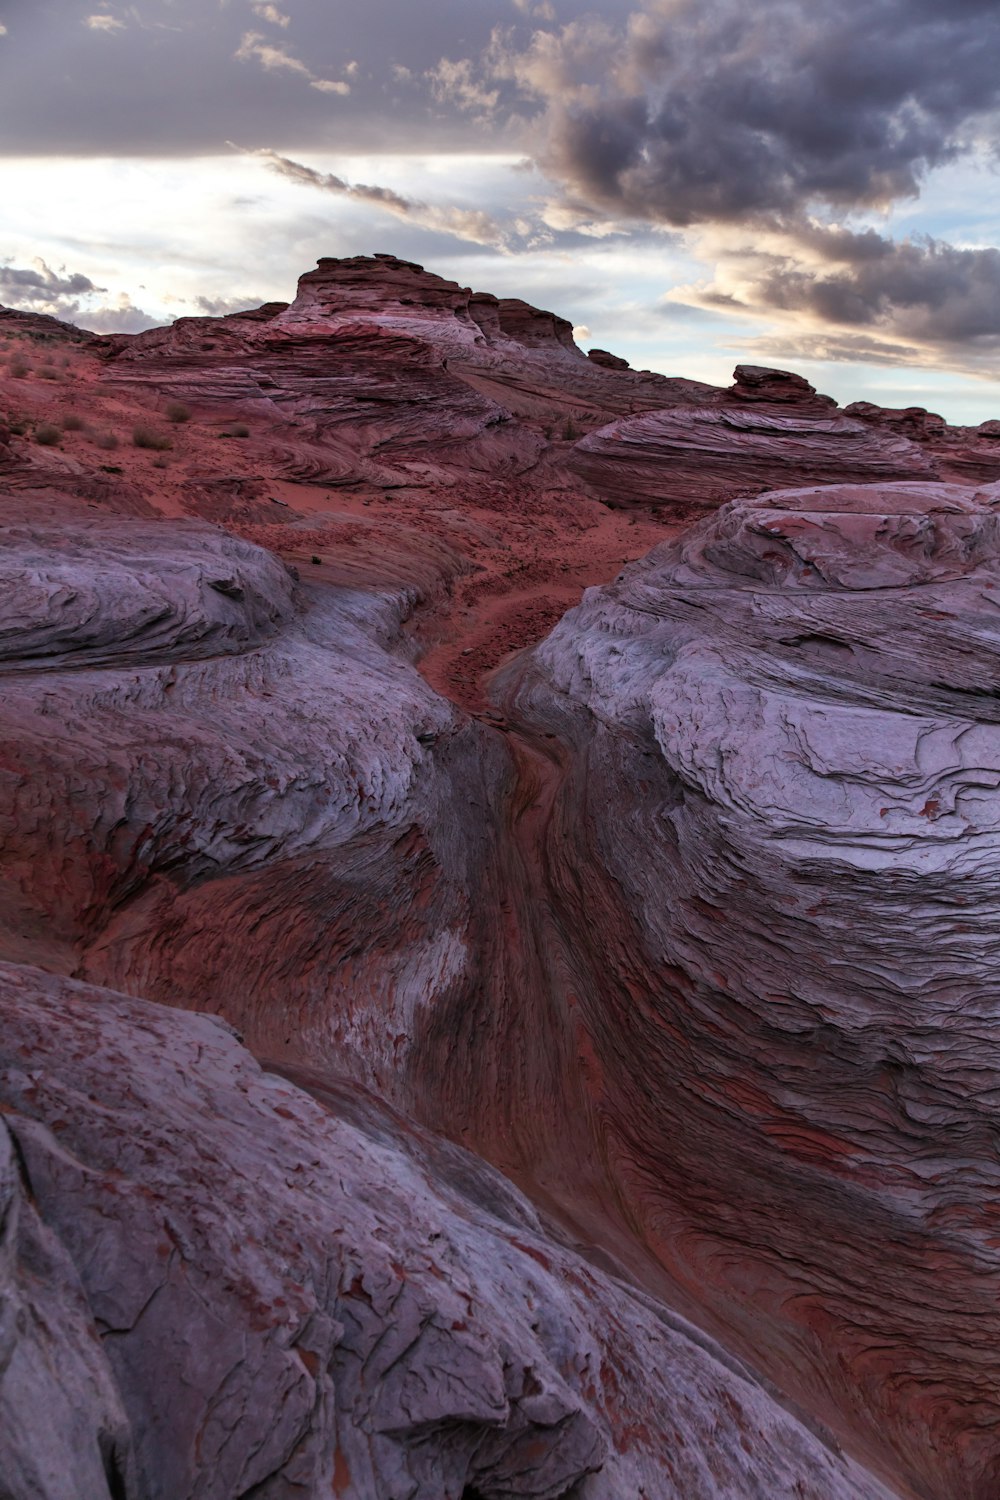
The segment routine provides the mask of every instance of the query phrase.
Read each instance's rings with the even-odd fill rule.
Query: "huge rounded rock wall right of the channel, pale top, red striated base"
[[[733,502],[507,684],[574,746],[549,896],[627,1212],[840,1431],[978,1500],[1000,1485],[999,542],[996,488]]]

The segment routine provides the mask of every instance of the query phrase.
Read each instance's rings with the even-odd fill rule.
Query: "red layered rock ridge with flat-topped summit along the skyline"
[[[565,318],[390,255],[322,260],[291,304],[103,348],[112,384],[264,422],[285,472],[324,483],[517,476],[525,494],[583,483],[688,518],[787,483],[951,477],[955,462],[1000,478],[997,444],[940,418],[903,435],[787,370],[739,366],[718,390],[586,358]]]

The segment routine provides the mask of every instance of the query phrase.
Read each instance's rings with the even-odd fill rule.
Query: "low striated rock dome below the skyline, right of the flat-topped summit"
[[[576,446],[570,466],[606,501],[678,520],[777,486],[936,477],[916,442],[832,412],[813,387],[801,410],[796,387],[777,400],[762,388],[750,387],[753,406],[673,406],[613,422]]]

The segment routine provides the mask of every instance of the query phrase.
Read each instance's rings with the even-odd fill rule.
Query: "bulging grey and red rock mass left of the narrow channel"
[[[390,650],[417,591],[294,592],[199,522],[12,526],[4,567],[4,952],[400,1090],[478,988],[502,772]]]

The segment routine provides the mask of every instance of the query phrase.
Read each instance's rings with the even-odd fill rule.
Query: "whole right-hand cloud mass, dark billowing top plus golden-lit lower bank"
[[[549,226],[646,220],[715,261],[678,302],[853,358],[864,342],[879,360],[984,369],[1000,354],[1000,250],[838,220],[996,148],[999,51],[994,0],[645,0],[526,45],[498,28],[456,76],[517,90],[525,142],[561,189]]]

